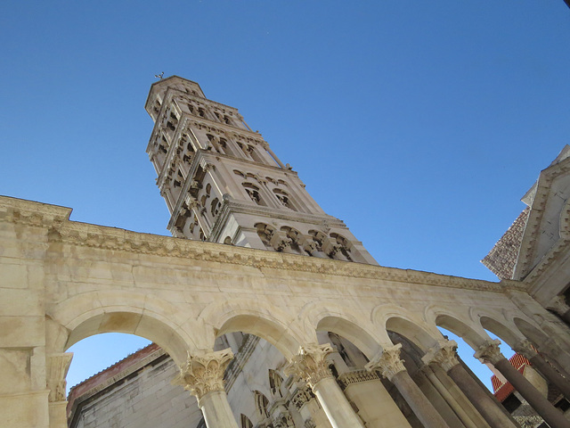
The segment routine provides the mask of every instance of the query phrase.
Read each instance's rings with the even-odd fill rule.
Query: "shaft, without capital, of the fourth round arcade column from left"
[[[501,409],[501,403],[487,394],[475,379],[467,373],[460,364],[452,366],[447,372],[452,380],[460,387],[460,390],[467,396],[471,404],[485,418],[487,424],[492,428],[518,428],[509,416],[505,415]]]

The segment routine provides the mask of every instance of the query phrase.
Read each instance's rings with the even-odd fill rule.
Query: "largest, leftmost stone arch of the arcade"
[[[60,302],[50,317],[68,332],[61,350],[86,337],[99,333],[130,333],[157,343],[182,366],[188,351],[199,346],[188,334],[203,329],[191,325],[184,329],[172,319],[177,308],[171,303],[153,297],[152,304],[146,296],[136,292],[88,292]],[[199,338],[198,338],[199,339]]]

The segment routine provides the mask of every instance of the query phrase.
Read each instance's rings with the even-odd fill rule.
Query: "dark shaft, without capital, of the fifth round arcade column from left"
[[[533,387],[533,385],[525,379],[525,376],[520,374],[518,370],[513,367],[507,358],[500,358],[493,362],[493,366],[501,372],[503,376],[511,383],[523,398],[528,401],[533,409],[542,416],[552,428],[570,428],[570,421],[559,411],[556,407],[550,404],[548,399],[545,399],[542,394]]]

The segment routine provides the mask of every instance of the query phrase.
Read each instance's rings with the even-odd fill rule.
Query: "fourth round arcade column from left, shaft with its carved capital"
[[[471,374],[468,374],[467,370],[460,365],[455,350],[457,350],[457,343],[447,341],[429,350],[421,359],[426,364],[441,366],[492,428],[517,428],[517,424],[499,407],[501,403],[490,397],[487,391],[481,388]]]

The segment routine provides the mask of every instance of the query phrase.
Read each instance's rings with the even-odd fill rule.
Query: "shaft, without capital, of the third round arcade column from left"
[[[426,428],[449,428],[406,370],[394,374],[390,381],[395,384],[413,413],[418,416],[419,422]]]

